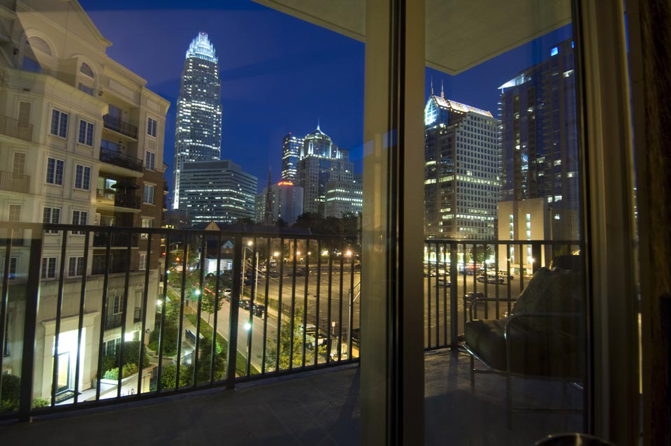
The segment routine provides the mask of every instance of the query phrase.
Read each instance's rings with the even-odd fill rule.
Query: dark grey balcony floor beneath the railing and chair
[[[505,381],[477,375],[470,391],[467,354],[428,352],[426,444],[533,445],[547,433],[579,431],[581,415],[517,414],[506,428]],[[353,445],[359,436],[359,367],[240,384],[199,395],[0,426],[4,444],[48,445]],[[579,406],[576,389],[516,380],[517,403]]]

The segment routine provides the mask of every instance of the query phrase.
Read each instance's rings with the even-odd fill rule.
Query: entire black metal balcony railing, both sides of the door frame
[[[17,265],[17,271],[10,272],[15,274],[13,277],[24,279],[3,280],[9,285],[2,291],[0,303],[12,302],[6,296],[14,293],[21,296],[26,308],[15,310],[14,314],[24,314],[25,320],[10,324],[20,324],[20,332],[27,333],[29,338],[17,343],[21,351],[15,356],[0,359],[3,361],[0,366],[26,371],[33,366],[21,366],[21,359],[34,358],[36,352],[45,348],[54,349],[53,357],[59,357],[58,344],[45,345],[43,335],[38,336],[38,327],[54,317],[78,320],[78,327],[56,326],[55,336],[66,339],[82,331],[84,317],[99,314],[91,319],[93,322],[87,322],[103,325],[92,330],[96,333],[92,343],[79,346],[75,343],[70,350],[71,355],[92,358],[75,377],[79,381],[71,382],[73,389],[80,389],[82,382],[99,385],[82,389],[81,394],[73,391],[70,399],[57,400],[56,386],[52,383],[63,380],[57,364],[46,361],[40,365],[46,368],[45,373],[39,374],[42,382],[33,387],[33,380],[21,380],[23,399],[15,408],[0,413],[0,419],[29,419],[38,413],[66,410],[78,401],[87,401],[86,407],[90,407],[175,391],[234,387],[237,382],[359,360],[360,309],[366,295],[359,286],[361,251],[356,234],[347,237],[162,228],[101,229],[60,224],[18,226],[0,223],[0,229],[22,229],[29,243],[29,247],[16,248],[24,253],[25,261]],[[46,231],[63,234],[75,230],[85,233],[83,243],[82,237],[77,238],[76,244],[63,245],[66,237],[43,240],[42,236]],[[147,233],[149,240],[146,247],[136,249],[132,242],[141,233]],[[167,247],[180,249],[168,249],[162,257],[162,252],[152,250],[156,244],[151,243],[161,239]],[[45,245],[43,242],[47,240]],[[233,248],[222,250],[229,243]],[[112,250],[114,244],[124,249]],[[6,252],[8,249],[10,252]],[[13,249],[10,243],[0,243],[0,259],[13,257]],[[491,315],[510,312],[510,302],[505,298],[517,297],[528,283],[529,274],[549,264],[556,255],[576,249],[574,241],[426,240],[423,287],[426,349],[458,347],[471,296],[482,293],[493,298],[490,305],[482,308]],[[74,279],[81,280],[82,287],[72,284],[64,287],[65,278],[58,275],[56,266],[53,269],[57,277],[51,276],[41,284],[41,266],[46,256],[92,259],[92,275]],[[154,256],[160,259],[154,262],[160,265],[159,271],[140,270],[142,258]],[[56,314],[38,305],[40,294],[52,292],[55,305],[49,308],[56,308]],[[120,309],[115,308],[120,311],[118,315],[106,312],[112,299],[122,302]],[[59,308],[70,310],[62,315]],[[80,309],[79,318],[76,308]],[[7,308],[1,310],[6,314]],[[110,366],[104,354],[108,341],[104,330],[110,327],[120,328],[123,340],[117,347],[122,358],[120,369],[126,365],[127,371],[134,371],[130,375],[108,370],[115,367]],[[10,325],[7,333],[15,332]],[[4,336],[6,333],[0,333],[0,342],[4,342]],[[78,348],[82,351],[77,352]],[[148,361],[143,359],[145,354],[149,354]],[[115,379],[105,379],[106,372]],[[142,384],[138,386],[138,382]],[[129,391],[131,388],[134,394]],[[45,398],[48,407],[32,408],[31,398],[36,396]]]

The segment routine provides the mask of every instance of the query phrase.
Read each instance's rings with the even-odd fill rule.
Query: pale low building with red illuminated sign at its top
[[[268,187],[264,187],[261,194],[257,194],[257,209],[254,221],[266,222],[268,210]],[[298,215],[303,213],[303,187],[294,186],[289,181],[280,181],[276,185],[270,185],[270,210],[273,215],[273,224],[282,219],[288,226],[296,223]]]

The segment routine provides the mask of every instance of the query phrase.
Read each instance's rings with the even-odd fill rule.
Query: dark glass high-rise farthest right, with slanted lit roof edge
[[[541,238],[577,239],[578,150],[573,67],[573,43],[563,41],[551,48],[548,59],[500,87],[502,201],[542,199],[544,202],[542,212],[534,205],[533,213],[522,212],[520,209],[528,206],[521,203],[501,203],[507,218],[500,221],[503,224],[500,237],[509,238],[512,216],[513,225],[544,227]],[[524,234],[521,236],[526,238]]]

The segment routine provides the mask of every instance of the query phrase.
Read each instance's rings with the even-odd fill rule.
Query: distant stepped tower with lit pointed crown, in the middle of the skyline
[[[326,215],[326,183],[352,182],[353,170],[349,152],[340,150],[317,125],[303,138],[296,168],[298,185],[303,187],[303,212]]]

